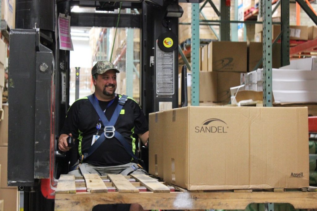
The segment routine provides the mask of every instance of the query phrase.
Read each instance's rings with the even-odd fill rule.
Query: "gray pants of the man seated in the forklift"
[[[107,174],[122,174],[127,175],[127,172],[131,172],[131,166],[135,163],[127,163],[118,166],[94,166],[88,163],[81,163],[80,169],[76,169],[68,172],[68,174],[75,176],[82,176],[82,174],[98,174],[99,176],[106,176]],[[136,169],[133,174],[147,174],[144,169]]]

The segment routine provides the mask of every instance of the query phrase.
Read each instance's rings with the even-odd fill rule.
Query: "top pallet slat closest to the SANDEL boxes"
[[[147,176],[145,174],[131,174],[133,178],[136,180],[139,180],[140,184],[142,184],[144,187],[149,189],[152,192],[156,193],[168,193],[170,192],[170,189],[157,181],[156,179],[153,179],[150,176]]]

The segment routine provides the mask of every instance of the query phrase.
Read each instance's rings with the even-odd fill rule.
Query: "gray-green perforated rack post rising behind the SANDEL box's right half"
[[[263,11],[263,105],[272,107],[272,2],[262,2]]]

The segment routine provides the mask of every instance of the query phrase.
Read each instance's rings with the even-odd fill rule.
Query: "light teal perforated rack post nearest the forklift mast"
[[[199,4],[191,4],[191,105],[199,105]]]

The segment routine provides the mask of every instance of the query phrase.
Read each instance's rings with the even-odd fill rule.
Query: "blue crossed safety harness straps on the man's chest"
[[[100,135],[100,137],[97,139],[97,141],[88,149],[88,151],[81,156],[81,158],[80,158],[81,163],[83,160],[85,160],[87,157],[89,157],[91,154],[93,154],[94,151],[100,146],[100,144],[104,140],[106,140],[106,138],[112,138],[112,137],[115,137],[116,139],[118,139],[118,141],[124,146],[126,151],[134,158],[134,160],[136,160],[136,161],[139,160],[133,154],[132,148],[127,143],[126,139],[118,131],[116,131],[114,128],[114,124],[117,122],[119,115],[120,115],[120,112],[121,112],[121,109],[122,109],[123,105],[126,103],[128,96],[122,95],[119,98],[118,105],[116,106],[110,121],[108,121],[108,119],[106,118],[106,115],[101,110],[101,108],[99,106],[99,102],[94,98],[94,95],[91,94],[87,97],[88,97],[89,101],[91,102],[91,104],[94,106],[94,109],[96,110],[102,124],[105,126],[105,129],[104,129],[105,132],[102,133]]]

